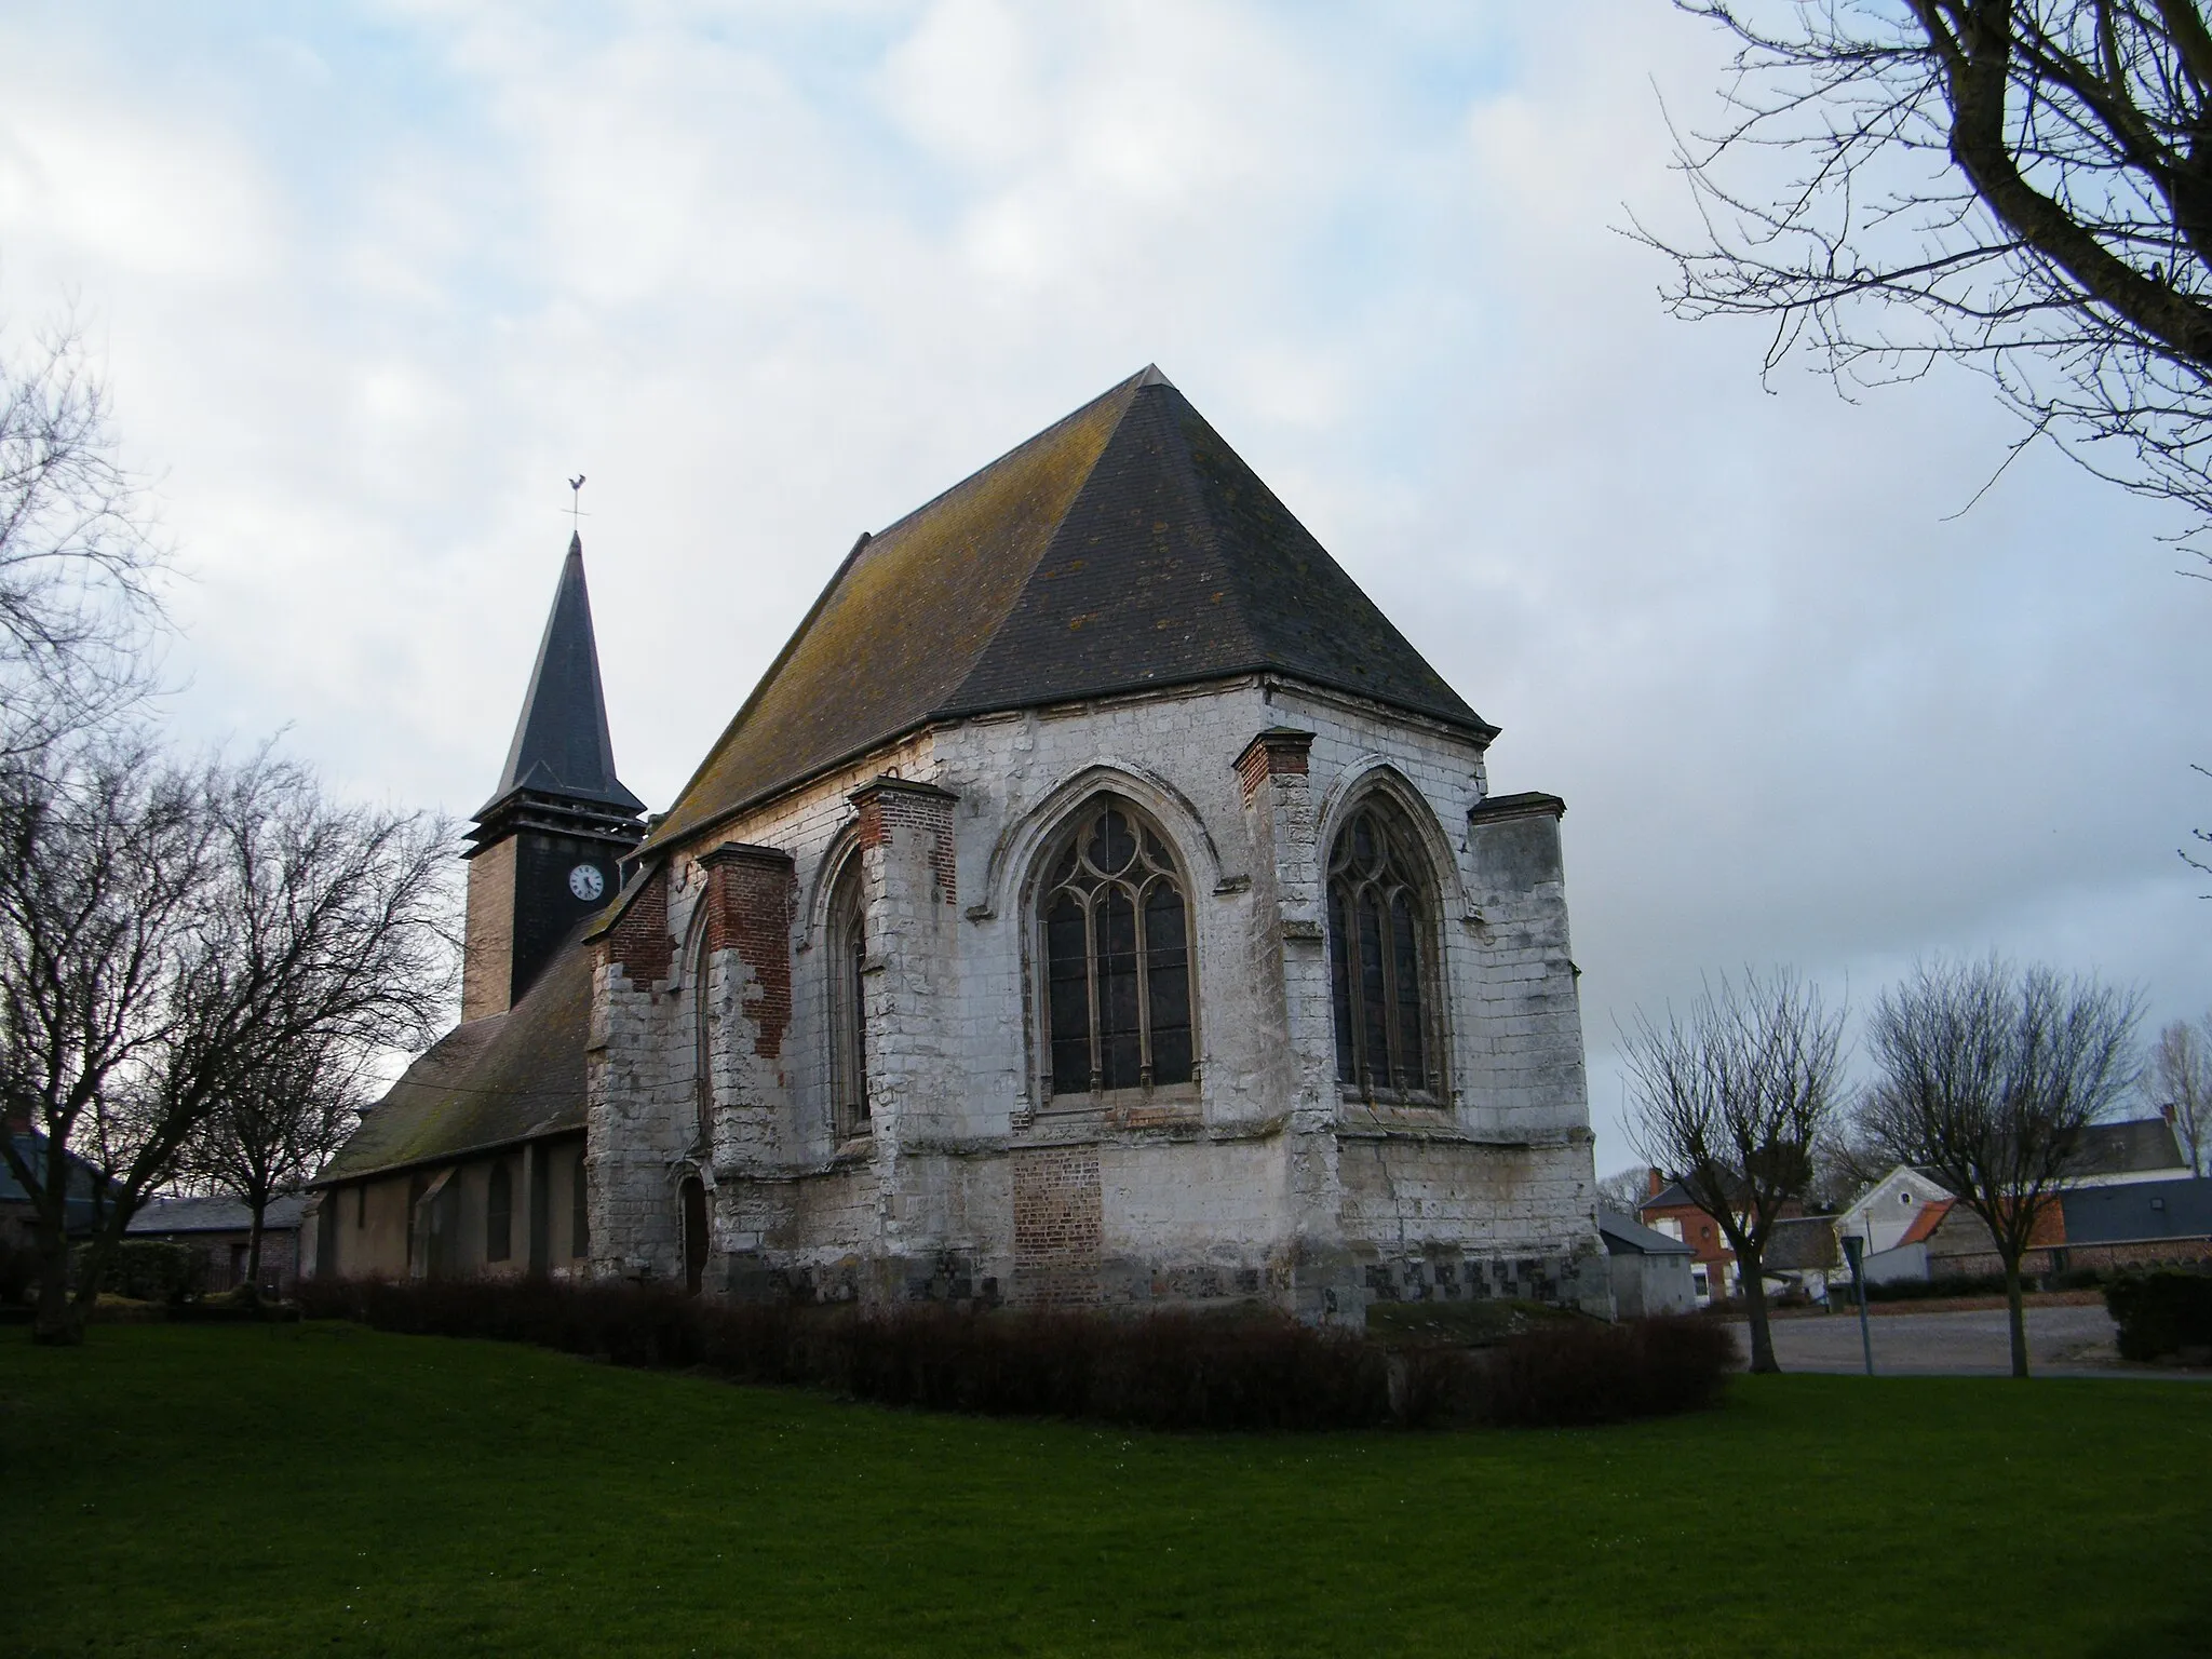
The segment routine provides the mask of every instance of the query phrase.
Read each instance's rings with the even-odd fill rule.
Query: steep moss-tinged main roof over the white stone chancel
[[[1254,670],[1495,734],[1148,367],[863,535],[646,845],[936,719]]]

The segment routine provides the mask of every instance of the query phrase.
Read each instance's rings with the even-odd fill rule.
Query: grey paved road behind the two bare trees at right
[[[1942,1314],[1876,1314],[1874,1369],[1878,1376],[1947,1371],[1953,1376],[2013,1369],[2002,1307]],[[1776,1318],[1774,1358],[1785,1371],[1863,1371],[1858,1314]],[[1750,1352],[1750,1329],[1736,1325]],[[2104,1307],[2031,1307],[2028,1367],[2044,1376],[2112,1376],[2112,1316]]]

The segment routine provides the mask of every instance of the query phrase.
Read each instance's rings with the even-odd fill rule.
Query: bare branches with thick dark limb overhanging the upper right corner
[[[1681,316],[1845,387],[1989,374],[2099,476],[2212,515],[2212,31],[2190,0],[1677,0],[1736,40],[1677,137]],[[2026,440],[2024,440],[2026,442]]]

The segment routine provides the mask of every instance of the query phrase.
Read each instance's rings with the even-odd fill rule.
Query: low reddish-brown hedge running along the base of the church
[[[1734,1338],[1697,1318],[1542,1329],[1471,1352],[1391,1349],[1274,1314],[823,1310],[526,1281],[307,1281],[301,1307],[880,1405],[1146,1429],[1617,1422],[1717,1405],[1736,1365]]]

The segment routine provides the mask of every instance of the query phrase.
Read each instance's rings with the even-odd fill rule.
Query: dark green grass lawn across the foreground
[[[982,1422],[347,1325],[0,1329],[0,1655],[2212,1652],[2212,1387]]]

